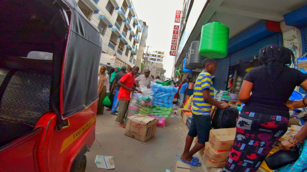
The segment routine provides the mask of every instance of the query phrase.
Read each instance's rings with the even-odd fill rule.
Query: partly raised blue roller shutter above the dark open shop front
[[[230,54],[230,66],[236,65],[239,62],[248,62],[254,59],[255,55],[259,54],[261,48],[267,45],[280,45],[281,40],[281,33],[278,33]]]

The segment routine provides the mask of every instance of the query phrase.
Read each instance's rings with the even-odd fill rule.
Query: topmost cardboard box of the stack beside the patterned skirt
[[[230,151],[234,140],[235,128],[210,130],[209,143],[217,152]]]

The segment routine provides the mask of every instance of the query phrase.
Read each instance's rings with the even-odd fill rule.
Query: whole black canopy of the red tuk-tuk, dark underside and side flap
[[[2,4],[0,28],[5,32],[0,43],[5,46],[0,66],[50,73],[49,104],[59,122],[96,101],[102,39],[77,2],[4,0]],[[31,51],[52,53],[52,60],[20,58]]]

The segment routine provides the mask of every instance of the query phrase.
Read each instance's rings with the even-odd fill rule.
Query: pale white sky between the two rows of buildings
[[[174,56],[169,55],[176,10],[182,10],[184,0],[131,0],[139,20],[148,26],[148,51],[164,51],[165,77],[170,78]],[[178,23],[176,25],[179,25]],[[147,50],[147,48],[145,49]]]

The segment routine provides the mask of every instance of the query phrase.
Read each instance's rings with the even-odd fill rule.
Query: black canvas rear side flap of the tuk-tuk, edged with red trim
[[[72,15],[60,90],[60,112],[66,118],[98,99],[97,71],[102,39],[97,27],[87,20],[75,0],[63,2],[68,5]]]

